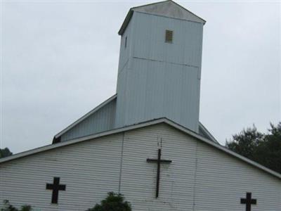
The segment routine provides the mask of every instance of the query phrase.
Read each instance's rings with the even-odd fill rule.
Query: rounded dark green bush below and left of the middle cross
[[[87,211],[131,211],[129,202],[124,201],[124,196],[117,193],[107,193],[107,198]]]

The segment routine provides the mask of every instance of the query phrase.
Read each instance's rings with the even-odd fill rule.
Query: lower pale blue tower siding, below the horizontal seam
[[[198,68],[133,58],[132,68],[126,71],[120,86],[122,92],[117,97],[122,105],[118,110],[122,117],[117,121],[124,120],[123,124],[129,125],[167,117],[196,131],[200,94]]]

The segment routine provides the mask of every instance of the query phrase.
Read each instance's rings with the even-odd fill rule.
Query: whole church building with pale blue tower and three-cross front
[[[87,210],[113,191],[133,211],[280,211],[281,174],[199,121],[204,24],[174,1],[131,8],[117,94],[52,144],[1,158],[0,203]]]

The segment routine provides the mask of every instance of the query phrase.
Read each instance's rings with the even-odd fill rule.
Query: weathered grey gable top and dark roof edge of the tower
[[[188,11],[183,6],[176,4],[176,2],[168,0],[168,1],[159,1],[152,4],[145,4],[143,6],[136,6],[130,8],[122,27],[120,28],[118,34],[122,35],[126,30],[127,25],[129,24],[131,17],[133,16],[133,12],[139,13],[147,13],[151,15],[161,15],[168,18],[176,18],[181,20],[188,20],[197,23],[205,24],[206,21],[194,13]]]

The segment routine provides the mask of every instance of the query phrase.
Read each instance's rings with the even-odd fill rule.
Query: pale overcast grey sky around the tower
[[[116,91],[117,31],[151,1],[4,1],[1,148],[19,153],[53,136]],[[200,120],[225,143],[281,119],[281,4],[176,1],[204,26]]]

